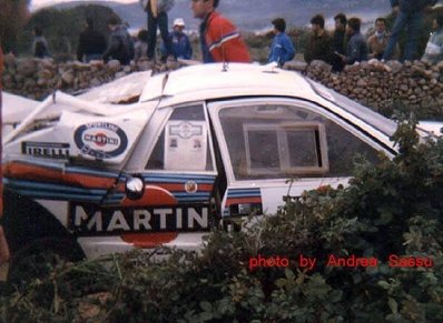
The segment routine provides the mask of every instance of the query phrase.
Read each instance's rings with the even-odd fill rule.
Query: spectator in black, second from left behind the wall
[[[93,28],[93,20],[88,17],[86,28],[79,37],[77,59],[85,63],[89,63],[91,60],[101,60],[106,47],[105,36]]]

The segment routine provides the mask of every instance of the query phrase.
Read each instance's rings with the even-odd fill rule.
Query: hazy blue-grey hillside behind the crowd
[[[112,1],[90,2],[109,6],[128,21],[131,28],[139,29],[146,26],[146,14],[138,1],[130,4]],[[57,8],[69,8],[80,3],[85,4],[85,1],[59,4]],[[341,11],[373,21],[378,14],[386,14],[390,11],[390,3],[387,0],[223,0],[219,11],[228,16],[242,30],[253,31],[267,28],[270,20],[276,17],[285,18],[289,26],[303,27],[308,24],[311,17],[323,13],[329,19],[331,24],[332,18]],[[169,17],[170,21],[177,17],[184,18],[190,30],[198,28],[199,22],[193,18],[189,0],[176,0],[176,6]]]

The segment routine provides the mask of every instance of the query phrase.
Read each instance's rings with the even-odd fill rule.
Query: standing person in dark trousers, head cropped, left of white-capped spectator
[[[167,55],[173,54],[168,31],[168,11],[174,7],[175,0],[139,1],[142,9],[148,13],[148,59],[154,60],[157,43],[157,29],[159,29],[167,53],[161,60],[166,61]]]

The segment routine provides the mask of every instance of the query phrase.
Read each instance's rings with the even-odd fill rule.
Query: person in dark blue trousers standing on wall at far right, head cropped
[[[401,32],[407,29],[407,41],[403,60],[416,58],[416,41],[420,32],[423,11],[426,7],[434,6],[437,0],[391,0],[393,11],[397,13],[391,38],[383,54],[384,60],[390,60],[395,51]]]

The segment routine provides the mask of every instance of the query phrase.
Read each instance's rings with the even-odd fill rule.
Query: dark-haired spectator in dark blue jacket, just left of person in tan
[[[358,18],[351,18],[347,21],[346,33],[350,37],[346,55],[342,55],[345,64],[353,64],[367,60],[367,47],[363,34],[360,32],[362,21]]]

